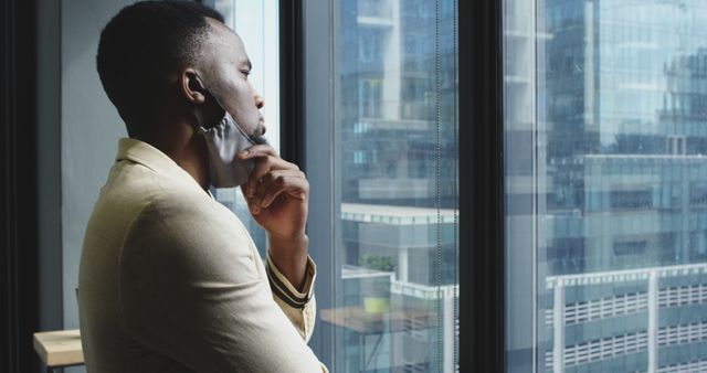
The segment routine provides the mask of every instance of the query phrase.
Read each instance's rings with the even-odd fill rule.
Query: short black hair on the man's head
[[[123,8],[101,32],[96,65],[108,98],[133,136],[173,68],[193,64],[218,11],[191,1],[140,1]]]

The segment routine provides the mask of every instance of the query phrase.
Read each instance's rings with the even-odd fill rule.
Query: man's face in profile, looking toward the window
[[[202,47],[205,63],[201,78],[235,122],[251,137],[258,138],[265,134],[261,113],[265,102],[247,79],[252,66],[243,42],[222,23],[208,21],[211,31]]]

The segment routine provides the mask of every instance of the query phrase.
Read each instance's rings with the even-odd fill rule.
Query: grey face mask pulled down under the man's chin
[[[219,103],[221,106],[221,104]],[[253,160],[238,158],[239,152],[255,145],[255,141],[224,109],[225,115],[210,128],[200,127],[209,150],[211,184],[214,188],[239,186],[253,170]]]

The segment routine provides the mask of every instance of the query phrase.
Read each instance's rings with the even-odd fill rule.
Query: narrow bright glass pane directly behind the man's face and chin
[[[277,0],[217,0],[212,7],[225,18],[245,44],[253,71],[249,81],[265,99],[262,109],[265,137],[279,149],[279,23]],[[261,256],[267,251],[267,235],[251,217],[240,188],[217,189],[215,199],[233,211],[246,226]]]

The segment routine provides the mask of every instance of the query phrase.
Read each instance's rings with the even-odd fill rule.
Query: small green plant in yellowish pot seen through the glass
[[[361,278],[363,309],[369,313],[384,313],[390,308],[390,273],[395,269],[392,257],[365,254],[359,264],[368,269],[380,271],[380,276]]]

